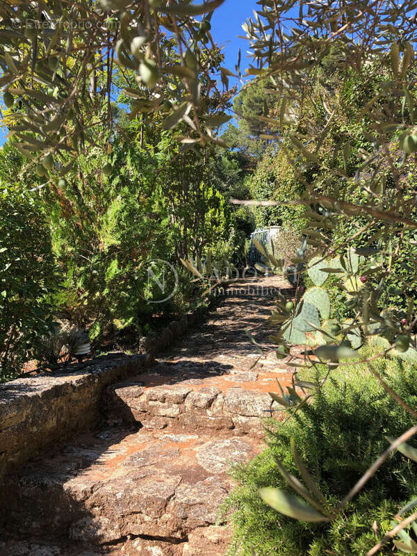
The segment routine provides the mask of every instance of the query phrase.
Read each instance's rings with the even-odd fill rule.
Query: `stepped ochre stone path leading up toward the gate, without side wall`
[[[261,449],[268,391],[290,377],[273,352],[257,361],[245,333],[268,343],[273,288],[286,284],[238,287],[147,373],[107,389],[101,430],[10,477],[1,556],[226,553],[231,533],[216,520],[227,470]]]

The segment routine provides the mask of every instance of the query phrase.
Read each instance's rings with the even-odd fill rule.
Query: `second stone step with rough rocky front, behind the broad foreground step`
[[[185,367],[159,363],[149,372],[109,386],[104,414],[115,425],[139,424],[148,430],[181,425],[187,430],[229,430],[263,436],[261,418],[279,406],[268,391],[277,374],[225,369],[204,364]]]

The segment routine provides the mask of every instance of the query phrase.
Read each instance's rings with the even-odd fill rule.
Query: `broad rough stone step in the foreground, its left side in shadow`
[[[85,434],[8,477],[2,518],[14,539],[88,548],[130,539],[132,555],[145,555],[145,541],[148,546],[158,541],[171,551],[161,555],[176,556],[179,544],[186,550],[195,530],[215,525],[218,507],[232,487],[227,474],[231,461],[247,461],[258,450],[256,439],[220,432],[215,440],[210,434],[145,427],[133,433],[113,428]],[[142,552],[135,553],[134,542],[142,544]],[[213,546],[211,554],[220,556]],[[187,550],[184,556],[199,554]]]

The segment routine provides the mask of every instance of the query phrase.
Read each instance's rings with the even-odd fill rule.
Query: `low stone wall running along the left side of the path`
[[[88,430],[101,418],[107,386],[143,372],[154,355],[204,316],[198,310],[173,321],[157,336],[144,338],[142,354],[109,354],[63,367],[55,373],[0,384],[0,477],[24,464],[42,448]]]

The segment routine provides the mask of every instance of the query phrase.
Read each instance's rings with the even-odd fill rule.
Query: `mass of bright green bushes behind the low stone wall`
[[[181,259],[245,261],[250,215],[227,202],[236,183],[213,178],[233,159],[220,147],[182,154],[158,119],[129,122],[120,109],[117,118],[106,154],[88,149],[49,183],[24,169],[15,142],[1,151],[3,379],[42,361],[45,338],[63,327],[86,330],[100,350],[134,349],[159,321],[204,303]],[[152,260],[177,277],[163,265],[152,267],[159,284],[149,279]],[[173,295],[154,303],[160,284]]]

